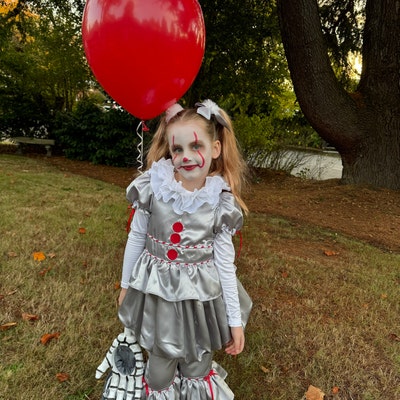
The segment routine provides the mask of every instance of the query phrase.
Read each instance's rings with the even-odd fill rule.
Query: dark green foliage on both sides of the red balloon
[[[132,118],[114,109],[104,113],[94,104],[76,106],[97,86],[83,53],[83,7],[81,0],[19,1],[2,16],[0,133],[55,137],[70,158],[132,164],[137,157]],[[237,119],[246,154],[265,153],[283,136],[290,142],[298,126],[287,120],[299,107],[288,84],[275,1],[204,0],[201,7],[206,52],[182,103],[218,102]]]

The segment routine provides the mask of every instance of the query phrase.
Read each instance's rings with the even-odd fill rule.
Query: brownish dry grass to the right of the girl
[[[238,398],[300,399],[312,384],[328,398],[400,399],[400,256],[265,215],[246,241],[238,267],[255,307]],[[308,254],[292,247],[304,241]]]

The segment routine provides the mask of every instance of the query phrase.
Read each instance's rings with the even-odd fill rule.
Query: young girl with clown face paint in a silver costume
[[[119,297],[122,323],[148,353],[146,398],[233,399],[212,362],[223,346],[242,352],[249,312],[240,307],[232,243],[247,211],[246,167],[228,115],[211,100],[174,105],[147,166],[127,188],[135,214]]]

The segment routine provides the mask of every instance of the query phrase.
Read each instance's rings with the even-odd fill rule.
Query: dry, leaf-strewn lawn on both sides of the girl
[[[0,156],[0,325],[17,323],[0,331],[0,399],[100,399],[94,371],[122,329],[126,206],[121,188]],[[243,236],[247,345],[216,356],[236,398],[300,400],[312,384],[329,399],[400,399],[400,256],[264,214]]]

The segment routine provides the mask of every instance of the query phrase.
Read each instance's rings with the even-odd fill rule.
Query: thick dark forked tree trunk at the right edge
[[[347,93],[331,68],[317,0],[278,0],[282,40],[300,107],[342,157],[342,182],[400,189],[400,10],[367,0],[363,71]]]

